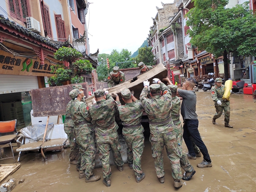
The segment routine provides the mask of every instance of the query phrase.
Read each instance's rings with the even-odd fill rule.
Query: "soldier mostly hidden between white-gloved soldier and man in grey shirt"
[[[182,146],[182,122],[180,121],[180,110],[181,110],[181,100],[176,96],[177,86],[168,85],[169,89],[172,92],[172,108],[171,108],[171,117],[173,120],[173,124],[175,126],[174,131],[177,135],[178,145]],[[195,169],[190,165],[187,154],[182,150],[182,158],[180,159],[181,167],[185,171],[185,175],[183,175],[183,180],[190,180],[192,176],[195,174]]]

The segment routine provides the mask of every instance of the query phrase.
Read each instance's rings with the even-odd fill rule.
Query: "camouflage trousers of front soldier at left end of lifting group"
[[[96,155],[93,134],[78,135],[76,142],[81,153],[81,160],[79,159],[81,161],[80,170],[84,170],[86,179],[89,179],[93,175]]]

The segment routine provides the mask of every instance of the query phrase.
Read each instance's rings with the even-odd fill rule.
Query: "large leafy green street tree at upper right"
[[[199,50],[223,55],[224,77],[228,79],[228,54],[256,55],[256,17],[249,2],[224,8],[229,0],[194,0],[195,7],[187,16],[186,25],[192,45]]]

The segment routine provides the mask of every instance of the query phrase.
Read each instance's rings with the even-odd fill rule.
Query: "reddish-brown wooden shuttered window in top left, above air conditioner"
[[[28,0],[9,0],[11,15],[18,20],[26,22],[30,16]]]

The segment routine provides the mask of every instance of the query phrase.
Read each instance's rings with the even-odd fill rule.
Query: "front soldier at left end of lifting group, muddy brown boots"
[[[80,147],[81,166],[79,171],[79,179],[85,178],[85,182],[94,182],[101,179],[100,176],[93,174],[95,166],[95,142],[91,118],[88,114],[88,107],[81,102],[83,92],[73,89],[69,96],[73,99],[69,111],[74,121],[74,131],[76,134],[76,142]]]

